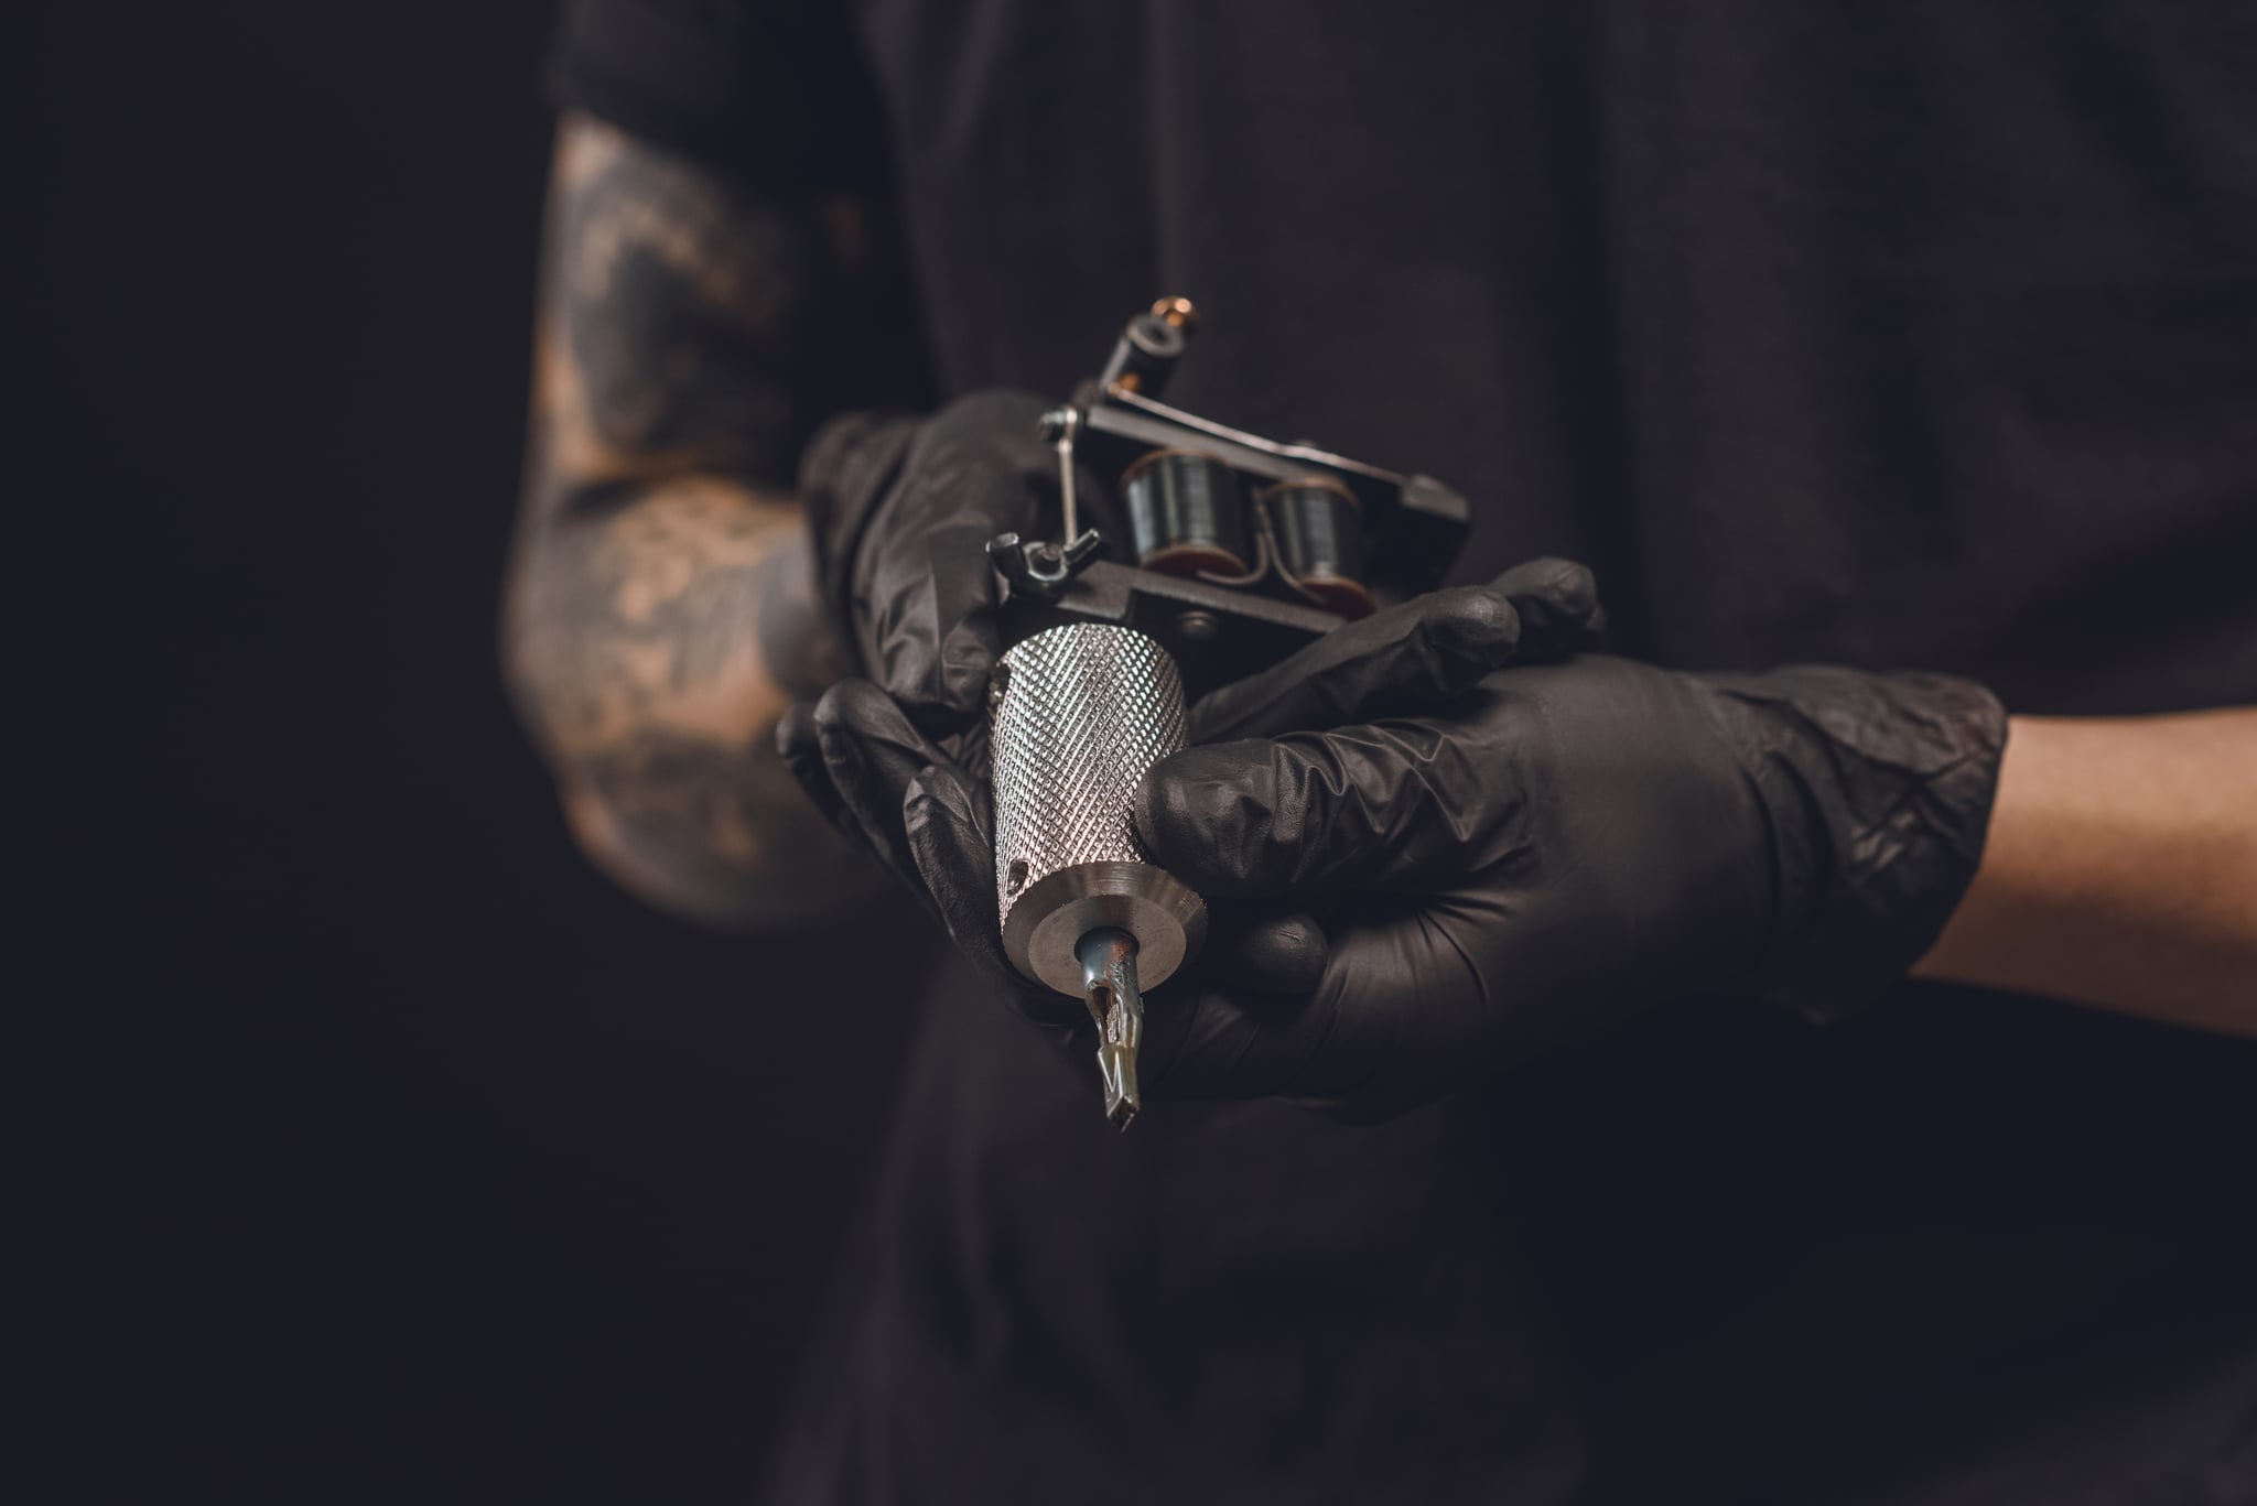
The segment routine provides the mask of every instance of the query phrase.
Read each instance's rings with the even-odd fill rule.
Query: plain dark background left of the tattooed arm
[[[18,25],[0,1492],[745,1499],[896,917],[643,910],[510,718],[551,7]]]

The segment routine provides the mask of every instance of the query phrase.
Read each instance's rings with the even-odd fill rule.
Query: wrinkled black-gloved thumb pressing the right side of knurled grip
[[[1138,833],[1210,899],[1420,887],[1526,817],[1472,759],[1426,720],[1187,747],[1138,786]]]

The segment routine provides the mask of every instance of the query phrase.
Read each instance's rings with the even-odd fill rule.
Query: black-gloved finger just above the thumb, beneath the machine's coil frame
[[[1451,698],[1510,662],[1519,637],[1519,612],[1496,587],[1415,596],[1201,695],[1192,741],[1273,738]]]

